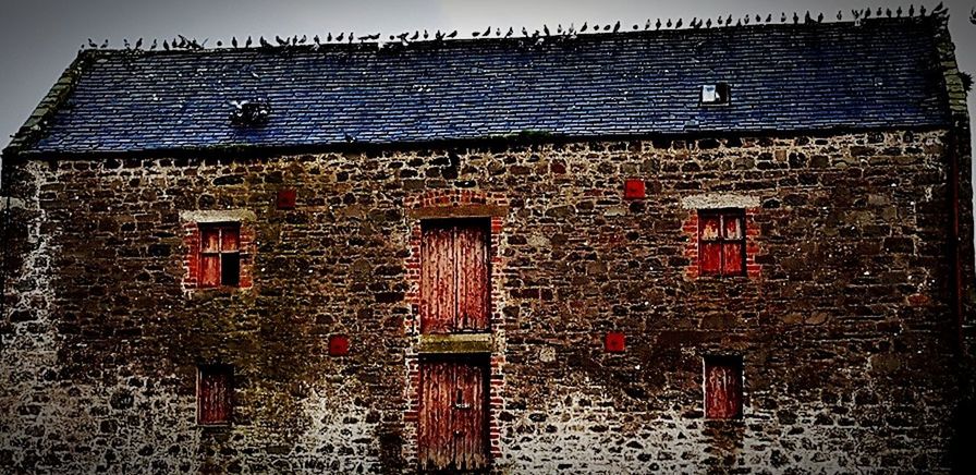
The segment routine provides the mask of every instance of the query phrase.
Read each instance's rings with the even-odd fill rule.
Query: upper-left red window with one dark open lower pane
[[[240,244],[240,223],[200,224],[200,287],[237,287],[241,281]]]

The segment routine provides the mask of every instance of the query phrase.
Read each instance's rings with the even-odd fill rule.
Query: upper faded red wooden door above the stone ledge
[[[488,329],[487,220],[438,220],[423,227],[420,332]]]

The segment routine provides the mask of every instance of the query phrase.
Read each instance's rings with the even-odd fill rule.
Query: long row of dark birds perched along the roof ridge
[[[855,22],[861,22],[862,20],[870,19],[871,15],[874,15],[876,17],[881,17],[882,15],[884,15],[890,19],[890,17],[901,17],[905,13],[907,13],[907,16],[910,16],[910,17],[915,16],[915,5],[908,5],[907,11],[903,11],[901,7],[899,7],[894,11],[892,11],[890,8],[884,9],[882,11],[881,7],[878,7],[877,11],[875,11],[875,12],[873,12],[870,8],[867,8],[864,10],[851,10],[851,15],[854,17]],[[920,5],[918,8],[918,16],[925,16],[925,15],[926,15],[925,5]],[[942,5],[942,2],[939,2],[939,4],[936,5],[935,9],[932,9],[932,11],[929,13],[929,15],[932,15],[932,16],[944,15],[948,17],[949,13],[945,10],[945,8]],[[842,11],[837,12],[838,21],[842,21],[843,16],[844,15],[843,15]],[[755,20],[756,24],[762,23],[761,15],[755,15],[754,19],[752,17],[752,15],[745,15],[742,19],[735,20],[735,26],[748,25],[749,22],[753,20]],[[790,19],[786,16],[786,12],[780,13],[780,23],[786,23]],[[801,22],[800,14],[796,12],[793,12],[792,20],[793,20],[794,24],[798,24]],[[822,23],[823,22],[823,13],[820,13],[816,17],[813,17],[813,16],[810,16],[810,12],[807,11],[802,20],[804,23]],[[728,15],[724,19],[722,16],[719,16],[715,22],[712,22],[711,19],[701,20],[698,17],[694,17],[694,19],[692,19],[691,22],[688,22],[687,26],[693,29],[697,29],[697,28],[701,28],[701,27],[710,28],[713,24],[717,26],[732,26],[732,22],[733,22],[732,15]],[[772,23],[772,22],[773,22],[773,16],[770,13],[766,16],[765,23]],[[969,13],[969,22],[973,23],[974,25],[976,25],[976,8],[974,8],[973,11]],[[661,19],[657,19],[657,21],[654,23],[651,23],[650,19],[648,19],[647,23],[644,24],[643,29],[649,31],[649,29],[651,29],[651,27],[654,29],[661,29],[661,27],[681,28],[682,26],[684,26],[682,19],[678,19],[676,22],[672,22],[671,19],[667,19],[666,22],[661,22]],[[564,39],[564,38],[572,39],[572,38],[575,38],[576,35],[578,35],[578,34],[585,34],[585,33],[590,33],[590,32],[591,33],[600,33],[600,32],[618,33],[621,31],[621,28],[622,28],[622,26],[621,26],[620,22],[617,22],[612,25],[606,24],[606,25],[602,25],[602,27],[597,24],[594,24],[593,26],[590,26],[588,24],[588,22],[584,22],[583,25],[580,26],[580,28],[576,28],[573,24],[571,24],[566,28],[563,28],[563,26],[560,24],[560,25],[557,25],[557,27],[554,28],[554,32],[551,31],[549,28],[549,26],[542,25],[541,31],[536,29],[535,32],[532,32],[532,33],[529,33],[529,31],[523,26],[522,27],[522,38],[528,39],[535,44],[542,44],[548,38],[552,38],[552,37],[556,37],[559,39]],[[631,29],[639,31],[640,25],[634,24],[631,27]],[[487,38],[487,37],[490,37],[492,33],[495,34],[496,37],[499,37],[499,38],[502,38],[502,37],[511,38],[516,35],[515,29],[512,27],[509,27],[509,29],[507,32],[504,32],[504,34],[502,34],[501,28],[496,27],[492,29],[492,27],[489,26],[489,27],[485,28],[484,32],[483,31],[472,32],[471,36],[473,38],[478,38],[478,37]],[[457,37],[457,31],[455,29],[451,33],[441,33],[440,31],[437,31],[432,35],[430,33],[428,33],[426,29],[423,33],[420,33],[420,31],[415,31],[415,32],[413,32],[413,34],[411,34],[411,32],[405,32],[405,33],[401,33],[399,35],[390,35],[389,42],[381,40],[380,37],[381,37],[381,35],[379,33],[371,34],[371,35],[363,35],[363,36],[358,36],[358,37],[355,36],[353,33],[346,34],[345,32],[343,32],[335,36],[332,36],[332,33],[328,33],[325,37],[315,35],[312,38],[312,45],[315,48],[318,48],[325,44],[342,44],[342,42],[353,44],[358,40],[359,42],[377,41],[377,45],[379,48],[383,48],[387,45],[391,45],[391,46],[400,45],[400,46],[405,47],[405,46],[410,45],[411,42],[418,41],[420,39],[430,40],[432,38],[434,41],[443,41],[444,39],[453,39],[453,38]],[[176,38],[173,38],[172,41],[163,40],[162,49],[167,50],[167,51],[175,50],[175,49],[202,50],[207,47],[208,39],[205,39],[203,41],[197,41],[194,38],[187,38],[183,35],[176,35]],[[252,39],[251,36],[248,36],[247,39],[243,39],[241,41],[239,41],[236,37],[233,37],[233,38],[231,38],[231,41],[230,41],[230,46],[233,48],[240,48],[240,47],[251,48],[252,46],[254,46],[254,44],[255,44],[255,41],[254,41],[254,39]],[[271,44],[269,40],[265,39],[264,36],[259,37],[257,40],[257,46],[260,48],[274,48],[274,47],[285,48],[285,47],[293,47],[293,46],[305,46],[308,44],[309,44],[309,39],[308,39],[307,35],[302,35],[301,38],[298,36],[293,36],[291,38],[288,38],[288,37],[282,38],[280,36],[274,36],[274,44]],[[126,50],[133,50],[133,49],[141,50],[143,48],[143,38],[137,39],[134,44],[130,44],[129,39],[124,39],[123,46]],[[87,49],[107,49],[108,47],[109,47],[108,39],[106,39],[101,45],[98,45],[94,40],[91,40],[91,38],[88,38],[88,42],[85,45],[82,45],[82,49],[86,49],[86,48]],[[217,47],[218,48],[224,47],[223,41],[218,40]],[[152,44],[149,45],[147,50],[155,51],[157,48],[159,48],[159,41],[157,39],[154,39]]]

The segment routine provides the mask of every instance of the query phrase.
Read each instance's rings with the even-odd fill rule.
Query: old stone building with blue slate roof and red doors
[[[2,471],[962,470],[945,16],[606,29],[80,53],[3,153]]]

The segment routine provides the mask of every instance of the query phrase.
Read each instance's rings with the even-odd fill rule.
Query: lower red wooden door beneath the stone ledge
[[[424,471],[488,465],[488,365],[478,358],[420,363],[418,459]]]

